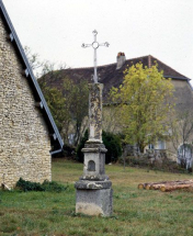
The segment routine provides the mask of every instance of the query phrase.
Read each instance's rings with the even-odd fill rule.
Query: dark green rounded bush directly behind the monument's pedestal
[[[86,142],[89,138],[88,130],[86,131],[83,137],[80,141],[80,144],[77,147],[77,160],[83,162],[83,153],[81,149],[84,147]],[[107,153],[105,154],[105,162],[116,161],[122,155],[122,144],[118,135],[112,133],[102,132],[102,139]]]

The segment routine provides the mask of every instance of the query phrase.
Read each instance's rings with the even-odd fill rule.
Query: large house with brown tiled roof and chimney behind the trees
[[[104,122],[103,128],[110,132],[118,132],[118,121],[115,120],[114,110],[109,103],[109,92],[112,87],[118,87],[123,82],[123,72],[127,67],[141,63],[144,66],[151,67],[155,63],[158,64],[158,69],[163,70],[164,78],[171,78],[171,82],[174,86],[174,97],[173,103],[175,104],[175,114],[183,114],[193,109],[193,91],[190,83],[190,78],[181,75],[177,70],[167,66],[156,57],[148,55],[138,58],[126,59],[124,53],[118,53],[116,57],[116,63],[105,66],[98,67],[99,82],[104,83],[103,90],[103,111],[104,111]],[[93,68],[75,68],[75,69],[63,69],[56,74],[48,74],[41,78],[41,82],[45,82],[48,87],[55,87],[57,89],[63,89],[63,78],[68,77],[75,82],[80,80],[92,81]],[[173,131],[170,131],[170,133]],[[191,136],[190,136],[191,137]],[[178,141],[178,145],[183,143],[183,141]],[[177,156],[177,148],[173,147],[173,142],[166,138],[166,141],[158,141],[156,144],[149,145],[150,149],[168,149],[173,157]]]

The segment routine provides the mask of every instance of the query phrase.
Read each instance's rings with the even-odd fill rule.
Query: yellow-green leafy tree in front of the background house
[[[125,142],[137,144],[140,153],[168,132],[173,86],[158,71],[157,65],[144,68],[139,63],[127,68],[123,85],[112,88],[110,94],[120,106]]]

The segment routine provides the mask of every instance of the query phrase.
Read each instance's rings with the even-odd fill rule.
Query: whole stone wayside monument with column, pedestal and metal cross
[[[76,213],[88,215],[112,214],[112,182],[105,175],[105,153],[102,142],[102,90],[103,85],[98,82],[96,49],[99,46],[109,46],[109,43],[96,42],[96,31],[93,31],[94,42],[83,44],[82,47],[94,48],[94,83],[89,85],[89,141],[82,151],[84,154],[83,176],[76,182]]]

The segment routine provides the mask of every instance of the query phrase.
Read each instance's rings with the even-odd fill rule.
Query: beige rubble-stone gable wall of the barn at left
[[[0,186],[50,180],[50,139],[0,16]]]

